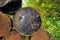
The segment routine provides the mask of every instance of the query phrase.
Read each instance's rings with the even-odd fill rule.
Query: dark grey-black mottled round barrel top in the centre
[[[25,7],[16,12],[13,23],[16,31],[31,36],[41,27],[41,17],[36,10]]]

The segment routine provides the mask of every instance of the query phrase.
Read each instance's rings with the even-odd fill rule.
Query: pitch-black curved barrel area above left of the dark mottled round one
[[[2,0],[3,1],[3,0]],[[22,0],[5,0],[4,6],[0,7],[0,11],[5,14],[15,14],[15,12],[21,8]]]

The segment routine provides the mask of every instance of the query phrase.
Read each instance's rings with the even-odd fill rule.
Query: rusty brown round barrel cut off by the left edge
[[[0,12],[0,37],[4,36],[10,31],[11,20],[8,16]]]

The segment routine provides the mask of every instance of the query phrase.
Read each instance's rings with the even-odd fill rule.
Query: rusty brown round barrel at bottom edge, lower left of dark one
[[[11,31],[3,38],[3,40],[24,40],[24,38],[16,31]]]

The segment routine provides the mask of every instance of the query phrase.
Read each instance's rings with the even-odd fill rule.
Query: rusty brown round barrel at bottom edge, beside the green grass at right
[[[53,40],[53,37],[43,29],[40,29],[33,36],[31,36],[30,40]]]

